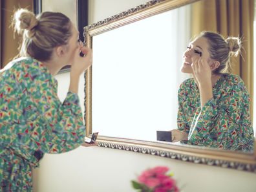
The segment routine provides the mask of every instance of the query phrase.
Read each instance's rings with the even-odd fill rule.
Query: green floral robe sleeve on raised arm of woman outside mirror
[[[34,115],[30,115],[33,130],[30,146],[37,145],[37,151],[43,153],[63,153],[75,149],[85,138],[78,94],[68,92],[61,103],[57,81],[49,73],[38,70],[36,64],[30,65],[28,75],[24,74],[23,78],[23,92],[28,97],[23,105],[28,111],[34,111]]]

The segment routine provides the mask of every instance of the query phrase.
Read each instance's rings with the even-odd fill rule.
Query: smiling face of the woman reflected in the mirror
[[[197,39],[189,43],[187,50],[183,54],[183,65],[180,69],[181,72],[193,74],[193,70],[191,67],[192,58],[199,59],[200,57],[202,57],[202,59],[206,59],[206,61],[208,61],[209,63],[210,57],[208,47],[209,44],[205,37],[198,37]]]

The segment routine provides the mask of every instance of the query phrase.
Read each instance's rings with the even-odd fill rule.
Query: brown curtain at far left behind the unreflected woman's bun
[[[21,36],[14,36],[14,30],[10,27],[12,15],[17,8],[33,10],[33,0],[1,0],[1,38],[0,59],[1,68],[11,61],[19,53],[18,47]]]

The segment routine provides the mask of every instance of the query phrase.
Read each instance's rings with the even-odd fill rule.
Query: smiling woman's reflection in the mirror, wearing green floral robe
[[[184,52],[181,71],[193,75],[178,91],[178,129],[173,142],[253,151],[250,96],[239,76],[224,73],[240,39],[202,32]]]

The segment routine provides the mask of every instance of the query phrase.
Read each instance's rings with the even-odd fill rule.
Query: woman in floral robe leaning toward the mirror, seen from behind
[[[78,30],[61,13],[36,17],[21,9],[14,24],[23,34],[22,57],[0,72],[0,191],[32,191],[31,168],[43,153],[89,146],[77,93],[92,51],[81,45]],[[65,65],[71,65],[70,86],[61,103],[53,76]]]

